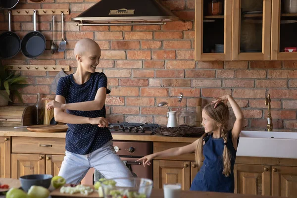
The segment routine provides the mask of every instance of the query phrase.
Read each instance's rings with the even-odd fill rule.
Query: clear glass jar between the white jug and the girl
[[[195,126],[196,111],[195,108],[185,107],[178,111],[178,125]]]

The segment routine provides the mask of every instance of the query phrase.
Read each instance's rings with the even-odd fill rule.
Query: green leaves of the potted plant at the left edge
[[[27,87],[28,85],[20,84],[26,82],[27,79],[20,75],[20,73],[15,74],[15,72],[8,71],[8,67],[3,66],[0,60],[0,106],[7,105],[8,101],[12,102],[12,95],[15,95],[23,102],[18,89]]]

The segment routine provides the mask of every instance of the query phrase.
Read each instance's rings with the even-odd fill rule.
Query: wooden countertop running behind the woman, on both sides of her
[[[13,127],[0,127],[0,136],[12,137],[40,137],[40,138],[65,138],[66,132],[60,133],[39,133],[31,132],[26,128],[14,129]],[[178,142],[193,143],[197,138],[170,137],[160,134],[155,135],[120,135],[112,134],[113,140],[129,140],[129,141],[151,141],[151,142]]]

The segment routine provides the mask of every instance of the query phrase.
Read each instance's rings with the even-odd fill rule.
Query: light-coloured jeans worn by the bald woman
[[[59,176],[65,178],[67,184],[79,184],[92,167],[100,171],[106,179],[133,177],[131,171],[115,153],[112,141],[86,155],[69,151],[65,154]]]

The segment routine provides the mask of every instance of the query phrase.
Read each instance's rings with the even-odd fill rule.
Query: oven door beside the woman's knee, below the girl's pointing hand
[[[125,162],[126,166],[131,170],[134,177],[148,178],[152,180],[152,164],[144,167],[142,162],[137,162],[139,158],[133,157],[121,157],[121,160]],[[127,163],[126,163],[127,162]]]

